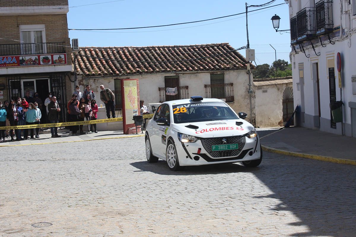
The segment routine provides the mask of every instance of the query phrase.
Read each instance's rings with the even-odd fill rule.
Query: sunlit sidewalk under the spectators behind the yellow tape
[[[123,131],[98,131],[98,133],[83,134],[83,135],[69,135],[67,129],[58,129],[58,135],[60,138],[51,138],[51,133],[41,133],[40,138],[27,139],[22,141],[10,141],[11,138],[6,138],[6,142],[0,142],[1,146],[25,146],[25,145],[40,145],[40,144],[50,144],[50,143],[63,143],[63,142],[78,142],[78,141],[91,141],[91,140],[102,140],[102,139],[112,139],[112,138],[126,138],[132,136],[143,136],[143,134],[130,134],[125,135]]]

